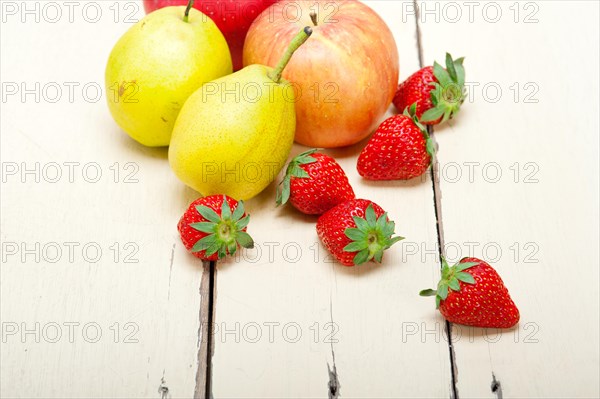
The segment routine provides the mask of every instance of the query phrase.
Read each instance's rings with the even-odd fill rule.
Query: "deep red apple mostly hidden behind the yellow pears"
[[[225,36],[233,70],[242,68],[244,40],[252,21],[277,0],[196,0],[194,8],[208,15]],[[187,5],[188,0],[144,0],[146,13],[169,6]]]

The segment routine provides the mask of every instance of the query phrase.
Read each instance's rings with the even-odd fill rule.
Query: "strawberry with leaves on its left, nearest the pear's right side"
[[[289,163],[277,204],[292,205],[307,215],[321,215],[337,204],[355,198],[346,173],[329,155],[309,150]]]

